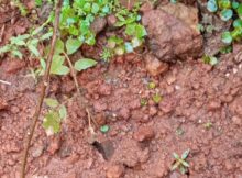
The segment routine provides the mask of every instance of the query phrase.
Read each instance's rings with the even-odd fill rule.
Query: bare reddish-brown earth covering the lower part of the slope
[[[94,119],[99,126],[110,126],[106,134],[96,129],[96,146],[88,142],[87,116],[75,99],[74,81],[52,77],[48,97],[72,98],[66,104],[68,118],[52,137],[41,118],[28,178],[241,178],[242,56],[241,46],[237,47],[215,67],[188,59],[157,77],[151,77],[145,60],[134,54],[79,74]],[[24,137],[38,94],[29,74],[26,60],[0,62],[0,79],[11,82],[0,84],[1,178],[20,177]],[[148,89],[150,81],[155,89]],[[160,104],[152,100],[155,93],[163,97]],[[142,107],[141,99],[147,105]],[[173,153],[188,148],[188,175],[170,171]]]

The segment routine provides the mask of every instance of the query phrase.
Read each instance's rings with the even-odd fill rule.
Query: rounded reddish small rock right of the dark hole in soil
[[[134,138],[139,142],[152,140],[155,136],[155,132],[151,126],[141,126],[134,133]]]

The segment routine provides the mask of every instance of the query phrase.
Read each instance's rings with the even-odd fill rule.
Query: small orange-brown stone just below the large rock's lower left
[[[168,64],[158,60],[154,55],[145,55],[145,68],[152,76],[158,76],[168,70]]]

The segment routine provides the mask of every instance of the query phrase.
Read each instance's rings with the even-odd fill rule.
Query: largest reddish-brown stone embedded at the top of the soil
[[[161,5],[145,12],[142,23],[147,30],[148,48],[160,60],[174,63],[201,55],[197,9],[182,3]]]

